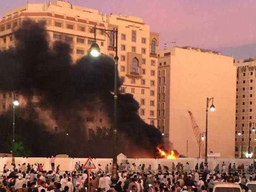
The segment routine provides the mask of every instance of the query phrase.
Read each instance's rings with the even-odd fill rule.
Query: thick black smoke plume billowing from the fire
[[[84,114],[103,107],[112,124],[113,60],[84,56],[74,62],[69,44],[50,43],[45,25],[32,20],[23,21],[14,37],[15,48],[0,52],[0,90],[15,90],[23,98],[25,105],[17,108],[16,130],[32,155],[111,157],[112,127],[98,129],[89,137],[84,133]],[[162,136],[144,123],[138,109],[131,94],[118,94],[118,152],[128,157],[154,157],[155,147],[163,144]],[[50,120],[42,120],[41,112],[47,112]],[[51,120],[64,131],[50,133]],[[1,116],[0,128],[3,140],[8,140],[11,111]],[[0,147],[4,151],[3,143]]]

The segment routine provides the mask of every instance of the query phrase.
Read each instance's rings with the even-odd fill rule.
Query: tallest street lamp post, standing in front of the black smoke
[[[101,30],[106,32],[110,32],[110,35],[113,35],[113,42],[111,45],[113,45],[113,50],[115,50],[116,55],[114,57],[114,62],[115,62],[115,69],[114,69],[114,125],[113,125],[113,141],[114,141],[114,146],[113,146],[113,166],[112,166],[112,176],[111,176],[111,181],[112,185],[116,185],[118,181],[118,172],[117,172],[117,98],[118,98],[118,87],[117,87],[117,65],[118,65],[118,56],[117,56],[117,37],[118,37],[118,30],[113,29],[113,30],[108,30],[108,29],[101,29],[97,28],[94,26],[94,43],[91,45],[90,48],[90,54],[93,57],[98,57],[99,56],[99,45],[96,43],[96,30]],[[115,39],[116,38],[116,39]],[[115,41],[116,40],[116,41]]]

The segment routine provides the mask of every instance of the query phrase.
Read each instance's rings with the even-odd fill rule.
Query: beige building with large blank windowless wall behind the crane
[[[205,132],[206,98],[214,97],[216,110],[208,113],[208,152],[234,157],[234,82],[233,57],[188,46],[159,51],[157,126],[180,154],[198,157],[199,146],[188,110],[200,132]]]

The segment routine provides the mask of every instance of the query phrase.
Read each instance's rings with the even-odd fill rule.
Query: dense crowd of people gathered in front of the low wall
[[[129,162],[118,165],[118,181],[111,183],[111,162],[104,168],[98,164],[97,170],[83,170],[80,162],[75,163],[73,171],[55,169],[54,158],[50,161],[52,170],[44,170],[43,163],[23,163],[22,165],[4,165],[0,192],[206,192],[212,191],[216,182],[231,182],[241,185],[244,192],[248,191],[246,183],[256,180],[254,162],[250,166],[234,163],[214,170],[208,170],[203,163],[190,167],[181,163],[171,167],[158,164],[157,170]],[[244,167],[243,167],[244,166]],[[246,170],[247,171],[243,171]]]

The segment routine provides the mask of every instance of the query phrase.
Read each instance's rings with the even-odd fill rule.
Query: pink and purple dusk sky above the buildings
[[[109,14],[139,16],[160,34],[160,47],[176,44],[220,49],[256,44],[256,0],[69,0]],[[45,0],[29,0],[44,3]],[[0,15],[26,0],[0,0]],[[256,52],[255,52],[256,55]]]

